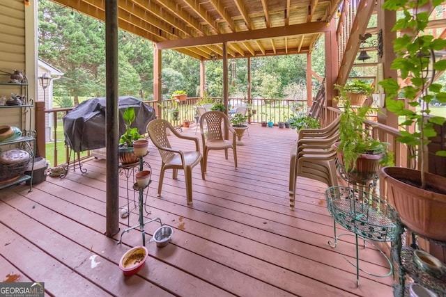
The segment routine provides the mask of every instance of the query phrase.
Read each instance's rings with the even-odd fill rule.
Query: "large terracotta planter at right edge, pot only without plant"
[[[387,184],[387,195],[401,222],[422,236],[446,241],[446,177],[425,174],[426,190],[417,186],[421,184],[419,170],[400,167],[380,170],[380,176]]]

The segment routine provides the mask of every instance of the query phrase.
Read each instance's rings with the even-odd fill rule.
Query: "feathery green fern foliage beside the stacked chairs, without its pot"
[[[344,102],[344,112],[340,115],[338,150],[343,154],[345,169],[347,171],[355,169],[356,159],[360,154],[383,154],[380,164],[392,165],[392,154],[388,150],[389,143],[374,139],[369,134],[369,130],[364,128],[367,115],[377,109],[370,106],[353,109],[345,88],[339,85],[334,85],[334,88],[339,91],[336,99]]]

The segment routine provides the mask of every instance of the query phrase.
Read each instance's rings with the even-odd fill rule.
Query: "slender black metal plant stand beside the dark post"
[[[130,200],[129,200],[129,190],[128,190],[128,181],[130,179],[130,177],[132,177],[132,179],[134,179],[134,172],[139,172],[144,170],[144,166],[147,166],[151,172],[152,175],[152,168],[151,166],[146,163],[143,159],[143,156],[139,156],[139,162],[137,163],[132,163],[132,164],[128,164],[128,165],[120,165],[119,166],[119,172],[120,174],[125,174],[125,177],[127,178],[127,207],[128,207],[128,225],[130,225]],[[150,179],[150,177],[149,177]],[[147,195],[148,195],[148,186],[150,186],[151,184],[151,179],[148,182],[147,186],[144,187],[140,187],[138,186],[138,184],[134,183],[133,184],[133,190],[137,191],[138,193],[138,201],[136,201],[135,199],[133,199],[135,207],[138,207],[138,212],[139,212],[139,223],[137,225],[134,225],[132,227],[128,227],[125,230],[123,230],[123,232],[121,232],[121,236],[120,239],[118,241],[118,244],[122,243],[123,241],[123,234],[129,232],[130,230],[133,229],[137,229],[139,228],[139,231],[141,232],[142,235],[142,245],[146,246],[146,231],[144,230],[144,226],[148,223],[151,223],[153,221],[157,221],[160,223],[160,225],[163,225],[163,223],[161,222],[160,218],[151,218],[150,220],[146,220],[144,221],[144,210],[146,211],[146,214],[151,214],[151,211],[147,211],[146,210],[146,200],[147,200]],[[146,191],[146,195],[144,199],[144,191]]]

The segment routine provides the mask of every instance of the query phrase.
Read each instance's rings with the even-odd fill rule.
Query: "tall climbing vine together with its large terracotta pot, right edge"
[[[406,121],[401,123],[403,127],[417,127],[413,131],[401,131],[398,141],[417,148],[419,170],[386,167],[380,173],[401,221],[417,234],[446,241],[446,177],[428,173],[426,162],[427,145],[431,142],[430,138],[436,136],[433,125],[443,125],[445,122],[443,117],[429,116],[429,103],[432,99],[440,103],[446,102],[446,93],[441,90],[442,86],[431,83],[434,74],[429,70],[446,70],[445,61],[435,61],[434,53],[446,47],[446,40],[434,38],[424,32],[429,22],[425,11],[416,13],[421,5],[424,2],[415,0],[401,3],[388,0],[383,4],[383,8],[387,10],[403,10],[403,18],[395,24],[393,30],[410,32],[410,35],[405,33],[394,40],[397,58],[394,59],[392,68],[401,73],[402,80],[410,83],[400,88],[396,79],[380,81],[380,86],[383,86],[386,93],[387,110],[406,117]],[[438,1],[433,3],[433,6],[438,5]],[[410,109],[406,108],[404,102],[394,99],[401,90]],[[446,156],[445,151],[436,154]]]

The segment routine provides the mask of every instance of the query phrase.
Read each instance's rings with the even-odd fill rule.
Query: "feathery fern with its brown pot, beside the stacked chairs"
[[[337,99],[344,101],[344,112],[339,123],[339,142],[334,144],[338,161],[348,182],[367,184],[376,179],[380,166],[392,164],[389,143],[374,139],[364,127],[367,115],[376,109],[370,106],[351,106],[351,97],[345,88],[335,85]]]

